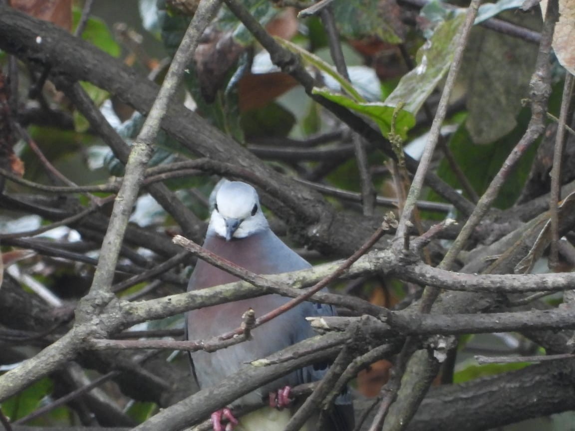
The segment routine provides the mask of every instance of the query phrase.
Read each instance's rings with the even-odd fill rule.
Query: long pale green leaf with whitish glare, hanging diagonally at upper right
[[[395,107],[404,102],[404,109],[413,115],[419,111],[449,70],[464,20],[465,16],[460,15],[436,28],[431,39],[417,51],[417,67],[401,78],[385,105]]]

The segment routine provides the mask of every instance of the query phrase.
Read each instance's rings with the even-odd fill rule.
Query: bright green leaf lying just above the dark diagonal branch
[[[319,94],[332,102],[338,103],[338,105],[345,106],[360,114],[370,117],[371,120],[377,123],[381,133],[385,137],[389,137],[393,113],[396,110],[395,107],[386,106],[381,102],[356,102],[346,95],[333,93],[326,88],[313,88],[312,93]],[[407,132],[409,129],[411,129],[414,125],[415,117],[412,113],[404,109],[401,109],[397,113],[395,133],[401,136],[403,140],[405,140],[407,137]]]

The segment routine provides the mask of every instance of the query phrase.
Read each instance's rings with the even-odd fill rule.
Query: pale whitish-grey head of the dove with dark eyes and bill
[[[208,233],[225,238],[245,238],[268,229],[258,193],[250,184],[224,182],[216,190]]]

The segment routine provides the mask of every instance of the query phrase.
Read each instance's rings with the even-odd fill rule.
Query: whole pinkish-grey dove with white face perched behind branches
[[[258,193],[250,184],[221,180],[210,196],[212,212],[203,247],[246,270],[260,275],[281,274],[310,268],[311,265],[290,249],[270,229],[259,202]],[[198,260],[191,275],[188,291],[218,286],[239,280],[205,261]],[[186,337],[200,340],[233,330],[242,321],[243,313],[253,309],[263,315],[289,301],[280,295],[268,294],[221,305],[191,310],[186,316]],[[214,386],[226,376],[238,371],[253,360],[260,359],[296,344],[315,333],[305,320],[317,315],[334,315],[329,305],[303,302],[251,332],[251,339],[215,352],[190,353],[192,370],[200,388]],[[244,395],[234,406],[261,404],[263,407],[237,419],[231,410],[212,414],[214,431],[283,431],[295,407],[290,405],[289,388],[321,379],[327,371],[325,364],[310,365],[294,371]],[[274,405],[278,408],[273,408]],[[223,418],[228,420],[224,426]],[[315,421],[315,422],[314,422]],[[353,409],[348,394],[340,395],[329,415],[325,429],[351,431]],[[301,431],[319,429],[317,417],[308,420]]]

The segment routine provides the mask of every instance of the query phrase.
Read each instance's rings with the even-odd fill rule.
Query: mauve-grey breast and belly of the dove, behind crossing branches
[[[258,235],[225,242],[219,237],[206,238],[205,248],[231,260],[237,265],[258,274],[281,274],[310,268],[311,265],[302,259],[296,252],[285,245],[271,230]],[[217,286],[237,280],[224,271],[217,270],[205,262],[198,261],[194,274],[190,279],[189,290]],[[191,340],[206,338],[237,328],[241,322],[241,314],[249,307],[260,316],[275,309],[289,298],[279,295],[264,295],[258,298],[235,301],[214,307],[193,310],[187,316],[187,333]],[[313,331],[305,317],[317,315],[333,315],[335,311],[329,305],[304,302],[294,309],[278,316],[256,328],[253,339],[246,343],[223,349],[213,353],[194,352],[194,375],[201,387],[212,386],[225,376],[239,370],[246,362],[269,356],[289,345],[296,344],[306,338],[313,337]],[[267,392],[274,391],[282,386],[297,386],[321,379],[327,371],[328,364],[317,364],[293,372],[281,379],[270,383],[257,391],[251,392],[240,399],[239,403],[251,404],[259,402]],[[350,401],[351,402],[351,401]],[[342,407],[343,406],[343,407]],[[351,428],[340,424],[345,422],[337,417],[343,410],[351,406],[346,402],[337,406],[333,412],[333,424],[330,430],[348,431]],[[343,410],[342,410],[343,409]],[[331,420],[331,418],[330,418]]]

